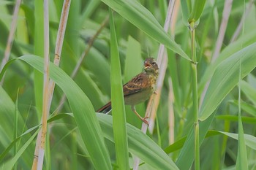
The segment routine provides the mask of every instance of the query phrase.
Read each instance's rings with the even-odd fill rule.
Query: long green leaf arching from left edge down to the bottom
[[[42,58],[39,58],[37,55],[23,55],[18,59],[26,61],[34,69],[43,72]],[[9,61],[4,66],[3,72],[0,74],[0,80],[7,66],[13,61],[15,60]],[[94,163],[94,167],[96,169],[112,169],[110,156],[108,155],[108,150],[102,136],[102,130],[89,98],[87,98],[78,85],[63,70],[53,63],[50,63],[50,78],[59,85],[69,100],[69,105],[74,114],[80,135],[89,152],[91,161]]]

